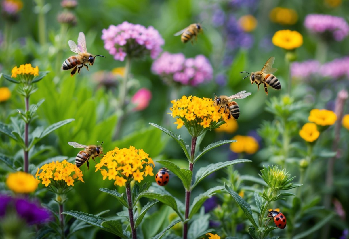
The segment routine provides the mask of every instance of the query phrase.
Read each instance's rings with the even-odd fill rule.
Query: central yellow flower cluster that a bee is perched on
[[[177,129],[183,125],[188,128],[188,126],[194,126],[195,124],[201,125],[205,129],[222,118],[210,98],[186,97],[183,95],[181,99],[172,100],[171,103],[173,104],[170,108],[171,116],[173,118],[178,117],[174,122],[174,124],[178,124]]]

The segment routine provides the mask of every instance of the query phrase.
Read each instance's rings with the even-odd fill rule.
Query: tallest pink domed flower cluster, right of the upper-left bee
[[[143,57],[150,54],[155,59],[162,51],[161,46],[165,44],[153,26],[146,28],[126,21],[117,26],[110,25],[102,33],[104,48],[119,61],[124,61],[126,55]]]

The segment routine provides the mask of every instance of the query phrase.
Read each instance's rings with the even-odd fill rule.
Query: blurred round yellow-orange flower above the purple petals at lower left
[[[26,172],[10,173],[6,179],[6,185],[15,193],[32,193],[38,187],[38,180]]]

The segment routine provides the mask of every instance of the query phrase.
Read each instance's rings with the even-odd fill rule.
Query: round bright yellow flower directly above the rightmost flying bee
[[[286,50],[293,50],[303,45],[303,36],[297,31],[280,30],[273,36],[273,44]]]

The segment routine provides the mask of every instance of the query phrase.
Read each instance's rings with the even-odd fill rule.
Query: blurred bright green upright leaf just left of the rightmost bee
[[[239,72],[244,71],[246,65],[246,51],[240,50],[231,64],[230,70],[228,72],[228,85],[230,88],[236,88],[238,84],[241,84],[241,80],[245,75],[240,74]],[[245,73],[246,74],[246,73]]]

